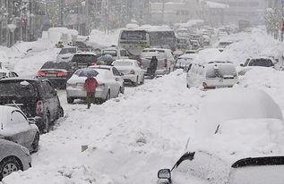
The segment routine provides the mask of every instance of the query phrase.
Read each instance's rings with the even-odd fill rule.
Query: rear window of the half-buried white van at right
[[[219,64],[210,65],[206,70],[206,78],[230,78],[237,77],[237,71],[234,65]]]

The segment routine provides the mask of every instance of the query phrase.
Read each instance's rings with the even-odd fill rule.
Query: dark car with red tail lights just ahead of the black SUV
[[[38,77],[48,79],[56,88],[66,88],[66,82],[73,75],[71,63],[47,62],[44,63],[38,72]]]

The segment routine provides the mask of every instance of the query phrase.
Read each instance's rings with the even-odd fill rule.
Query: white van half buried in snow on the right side
[[[201,87],[230,88],[238,82],[236,67],[233,63],[211,62],[204,65],[193,63],[189,66],[187,75],[187,88]]]

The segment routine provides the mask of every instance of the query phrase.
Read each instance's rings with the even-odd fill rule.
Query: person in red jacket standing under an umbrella
[[[90,109],[90,104],[95,104],[95,94],[96,94],[96,88],[99,87],[99,83],[97,79],[90,77],[85,80],[84,88],[87,92],[87,103],[88,107],[87,109]]]

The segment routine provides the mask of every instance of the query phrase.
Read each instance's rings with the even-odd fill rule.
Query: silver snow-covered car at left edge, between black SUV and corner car
[[[39,149],[39,128],[18,108],[0,105],[0,138],[27,147],[30,153]]]

